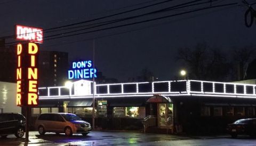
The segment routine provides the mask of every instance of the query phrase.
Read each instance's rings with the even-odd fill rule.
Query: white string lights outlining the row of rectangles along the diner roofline
[[[184,82],[186,84],[185,88],[180,88],[180,91],[174,91],[173,88],[175,86],[175,84],[171,84],[171,83],[180,83],[180,82]],[[196,91],[196,90],[191,90],[191,83],[193,82],[199,82],[199,86],[200,86],[200,90]],[[79,82],[78,82],[79,83]],[[155,86],[159,83],[167,83],[165,88],[162,89],[162,91],[159,89],[157,90],[157,92],[155,92]],[[212,92],[204,92],[205,88],[204,88],[204,83],[210,83],[212,84]],[[142,92],[140,89],[141,84],[151,84],[151,92]],[[216,91],[215,85],[216,84],[220,84],[223,85],[223,90],[222,92],[218,92]],[[115,93],[111,93],[111,86],[116,86],[119,85],[120,86],[120,91],[119,92],[115,92]],[[134,87],[136,87],[136,91],[133,92],[129,92],[126,93],[127,91],[125,91],[124,85],[134,85]],[[227,85],[231,85],[231,87],[234,88],[234,92],[233,93],[227,93]],[[243,93],[237,93],[237,86],[243,86]],[[157,82],[138,82],[138,83],[117,83],[117,84],[98,84],[95,85],[95,89],[97,87],[101,87],[101,86],[106,86],[107,87],[107,93],[99,93],[99,91],[97,91],[95,93],[95,98],[120,98],[120,97],[145,97],[145,96],[154,96],[154,95],[160,95],[160,96],[215,96],[215,97],[234,97],[234,98],[256,98],[256,94],[255,94],[255,87],[256,85],[251,85],[251,84],[239,84],[239,83],[224,83],[224,82],[210,82],[210,81],[202,81],[202,80],[175,80],[175,81],[157,81]],[[199,87],[198,86],[198,87]],[[83,87],[83,86],[81,86]],[[79,89],[81,89],[81,87],[79,87]],[[252,87],[252,93],[247,93],[248,90],[246,90],[246,87]],[[51,91],[53,89],[58,89],[58,95],[52,95]],[[59,86],[59,87],[39,87],[38,90],[41,93],[42,91],[47,90],[47,95],[43,95],[43,93],[41,93],[39,95],[39,99],[79,99],[79,98],[92,98],[92,93],[86,93],[86,94],[79,94],[76,95],[75,93],[73,95],[71,95],[71,90],[76,90],[76,88],[74,87],[74,89],[70,89],[69,90],[69,96],[67,95],[63,95],[61,93],[61,89],[62,88],[66,88],[65,86]],[[88,89],[87,89],[88,90]],[[90,89],[91,90],[91,89]]]

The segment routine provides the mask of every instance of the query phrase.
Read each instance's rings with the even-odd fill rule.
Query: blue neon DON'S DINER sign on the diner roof
[[[93,68],[92,61],[78,61],[72,63],[72,69],[68,70],[68,79],[83,79],[97,77],[97,69]]]

